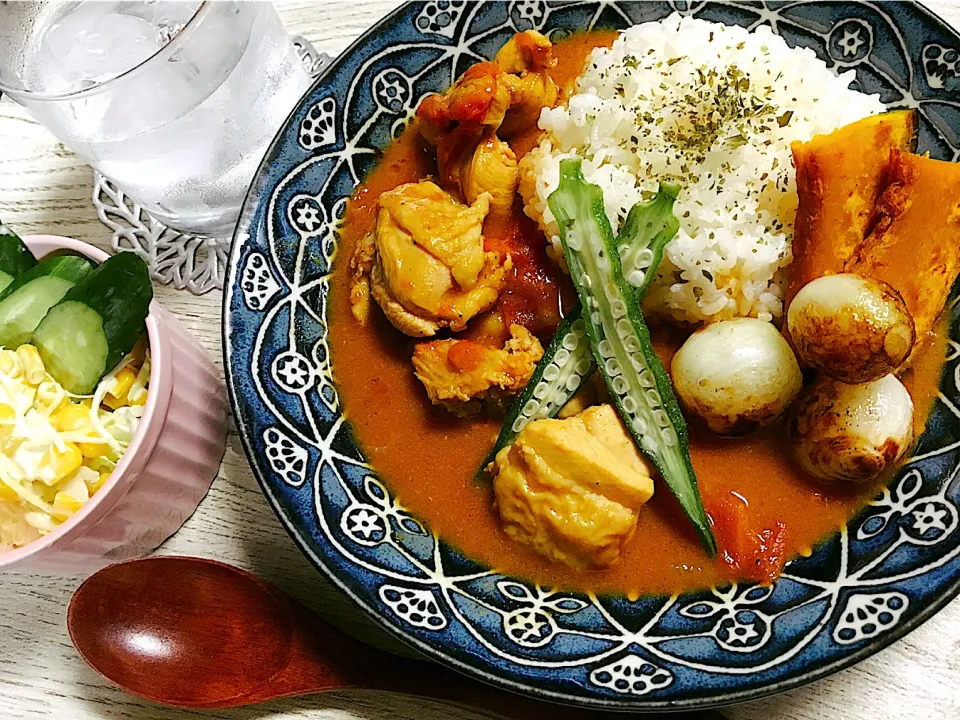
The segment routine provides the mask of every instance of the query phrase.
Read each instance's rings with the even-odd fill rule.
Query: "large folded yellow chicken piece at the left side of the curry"
[[[375,232],[354,252],[350,303],[362,324],[372,297],[400,332],[431,337],[463,330],[492,307],[508,274],[509,255],[485,252],[489,196],[461,205],[431,182],[408,183],[380,197]]]

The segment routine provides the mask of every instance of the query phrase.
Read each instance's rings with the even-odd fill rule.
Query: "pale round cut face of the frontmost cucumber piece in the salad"
[[[110,348],[103,320],[89,306],[68,300],[50,308],[33,342],[47,372],[68,392],[85,395],[103,377]]]

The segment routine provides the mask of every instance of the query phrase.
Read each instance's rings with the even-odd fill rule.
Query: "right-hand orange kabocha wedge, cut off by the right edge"
[[[896,288],[922,338],[960,272],[960,164],[894,150],[876,227],[844,266]]]

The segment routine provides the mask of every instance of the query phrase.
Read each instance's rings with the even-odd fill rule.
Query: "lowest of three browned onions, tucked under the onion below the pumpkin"
[[[891,468],[913,440],[913,401],[893,375],[860,385],[826,376],[804,389],[788,422],[794,455],[811,475],[860,483]]]

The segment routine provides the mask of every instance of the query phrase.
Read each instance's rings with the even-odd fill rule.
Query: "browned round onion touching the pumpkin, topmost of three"
[[[787,331],[802,364],[851,384],[896,370],[916,340],[900,293],[851,273],[804,285],[787,311]]]

